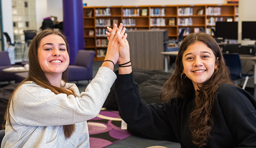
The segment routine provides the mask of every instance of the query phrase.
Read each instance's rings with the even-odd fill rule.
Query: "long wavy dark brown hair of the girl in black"
[[[204,43],[210,48],[215,56],[215,65],[218,69],[206,82],[195,91],[192,81],[186,77],[181,78],[183,71],[182,56],[189,45],[196,42]],[[217,59],[218,58],[218,59]],[[183,76],[184,77],[184,76]],[[175,61],[175,72],[162,88],[160,99],[163,102],[169,101],[171,98],[180,98],[187,100],[190,96],[194,96],[194,110],[190,113],[189,127],[192,133],[193,143],[198,147],[207,144],[211,137],[210,132],[213,127],[212,109],[215,105],[216,91],[221,83],[232,84],[230,79],[229,68],[226,66],[219,45],[214,38],[206,33],[192,33],[188,35],[182,42]]]

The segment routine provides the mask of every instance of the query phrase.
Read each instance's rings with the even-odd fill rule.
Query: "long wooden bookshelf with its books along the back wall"
[[[85,49],[95,50],[94,60],[104,60],[106,26],[112,28],[113,21],[128,30],[167,29],[169,39],[178,39],[181,28],[202,27],[210,34],[216,20],[238,21],[238,4],[84,7]]]

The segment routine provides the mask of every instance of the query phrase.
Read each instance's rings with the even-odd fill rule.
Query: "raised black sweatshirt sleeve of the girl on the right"
[[[114,87],[120,116],[130,127],[151,137],[178,142],[168,122],[165,104],[146,104],[132,73],[117,74]]]

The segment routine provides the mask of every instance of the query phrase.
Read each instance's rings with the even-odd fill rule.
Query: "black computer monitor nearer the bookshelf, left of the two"
[[[238,40],[238,22],[217,21],[215,37],[218,40]]]

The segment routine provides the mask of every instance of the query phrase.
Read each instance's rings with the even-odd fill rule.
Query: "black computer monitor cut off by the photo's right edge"
[[[256,21],[242,21],[242,40],[256,40]]]

